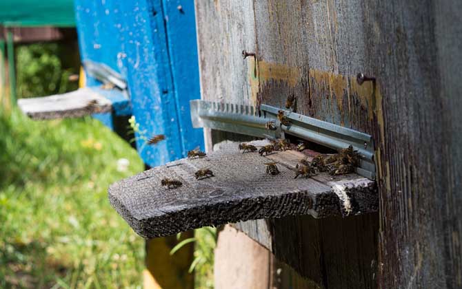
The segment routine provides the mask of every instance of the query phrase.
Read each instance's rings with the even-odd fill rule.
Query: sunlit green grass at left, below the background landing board
[[[0,164],[0,288],[141,288],[144,241],[107,197],[143,169],[126,142],[91,118],[0,109]]]

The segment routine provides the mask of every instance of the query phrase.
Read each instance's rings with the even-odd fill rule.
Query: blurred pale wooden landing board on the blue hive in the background
[[[97,105],[88,105],[96,100]],[[94,92],[89,87],[83,87],[66,94],[37,98],[21,98],[18,100],[21,111],[30,118],[46,120],[54,118],[78,118],[111,111],[112,103]]]

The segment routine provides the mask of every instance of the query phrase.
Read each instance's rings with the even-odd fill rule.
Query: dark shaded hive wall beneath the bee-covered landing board
[[[288,216],[232,226],[317,288],[376,288],[378,256],[371,244],[377,244],[378,213],[323,219]]]

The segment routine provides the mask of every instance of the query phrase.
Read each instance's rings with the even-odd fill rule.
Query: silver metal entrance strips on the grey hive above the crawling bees
[[[192,126],[195,128],[209,127],[258,138],[281,138],[283,133],[288,133],[337,150],[352,145],[361,156],[356,173],[365,178],[375,178],[374,142],[372,136],[367,133],[270,105],[261,105],[258,110],[248,105],[191,100],[190,107]],[[284,111],[285,116],[292,122],[290,127],[280,124],[277,119],[279,110]],[[270,120],[274,120],[277,130],[265,128],[265,124]]]

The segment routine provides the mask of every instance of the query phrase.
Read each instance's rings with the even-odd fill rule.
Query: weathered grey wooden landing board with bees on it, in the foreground
[[[259,144],[263,144],[259,141]],[[306,157],[297,151],[241,153],[237,144],[201,159],[182,159],[112,184],[109,200],[139,235],[162,237],[201,226],[278,218],[286,215],[358,215],[379,206],[375,182],[356,174],[321,173],[294,179],[292,169]],[[278,163],[281,173],[265,173],[265,162]],[[198,169],[214,177],[196,180]],[[163,178],[181,180],[183,186],[165,189]]]

